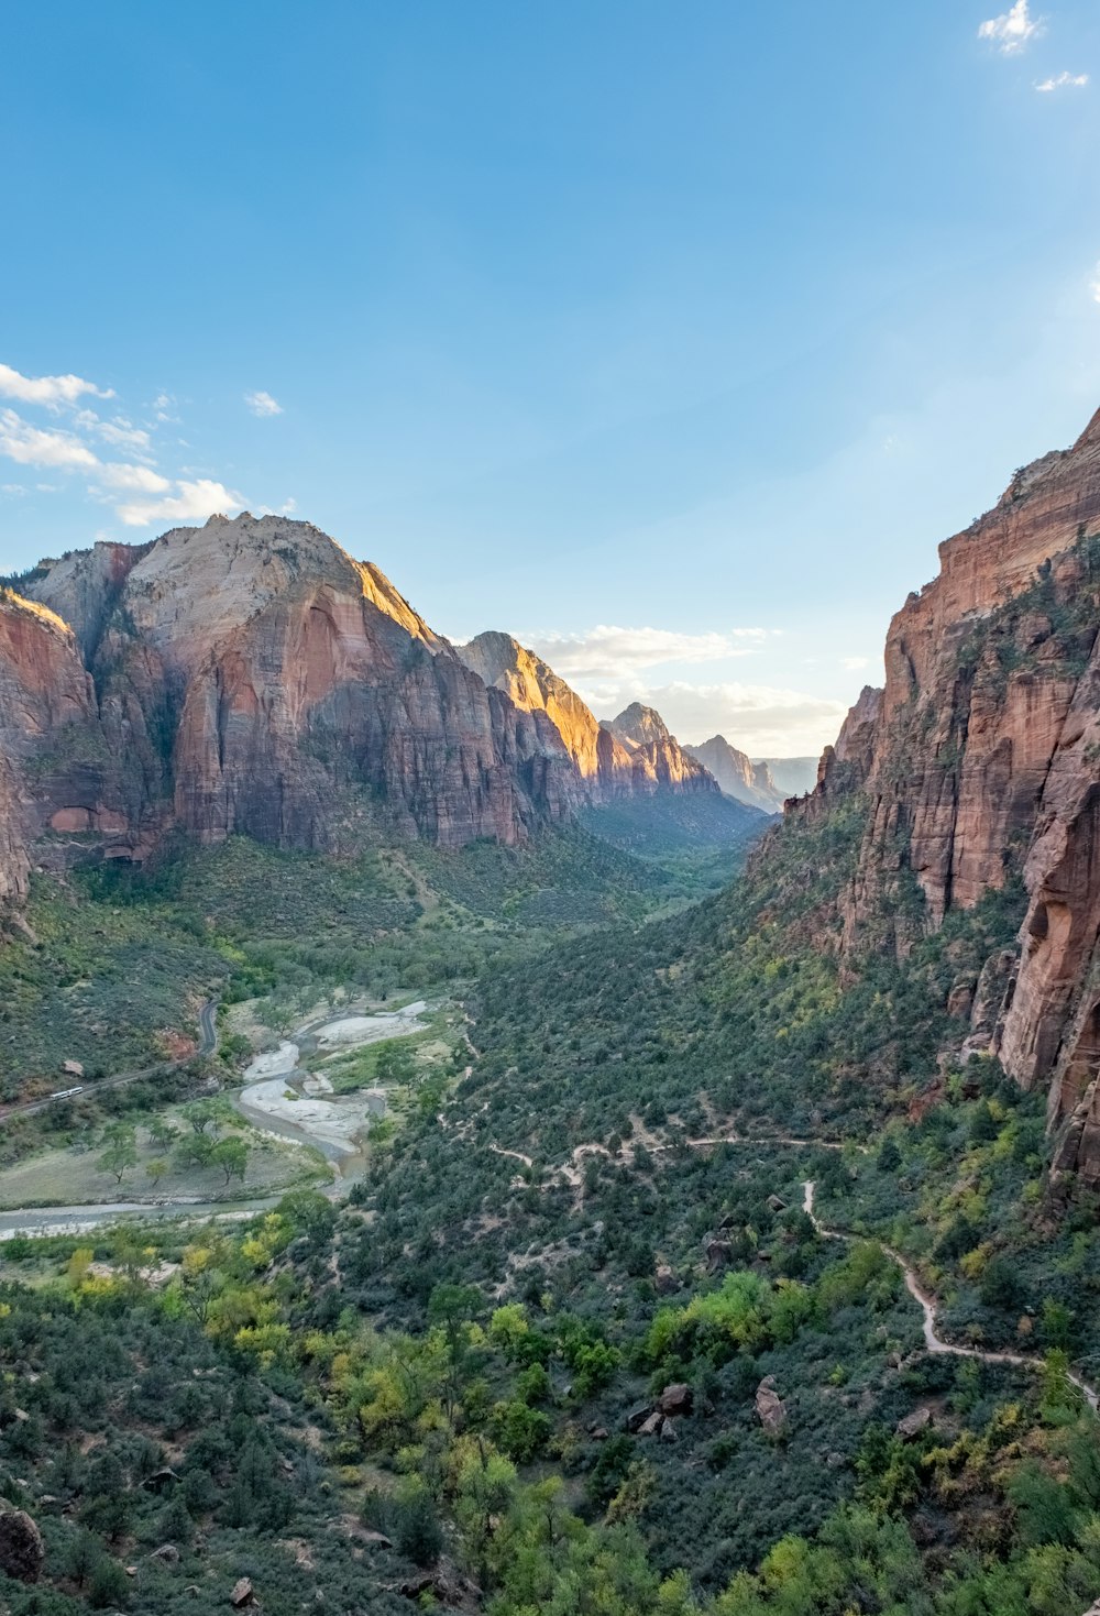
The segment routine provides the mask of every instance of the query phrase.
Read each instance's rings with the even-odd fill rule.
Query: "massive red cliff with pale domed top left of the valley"
[[[212,517],[45,562],[26,590],[0,603],[3,897],[34,860],[142,856],[173,824],[331,852],[370,824],[515,844],[583,800],[546,714],[309,524]]]

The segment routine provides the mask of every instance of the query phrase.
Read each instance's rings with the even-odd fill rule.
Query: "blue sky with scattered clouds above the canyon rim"
[[[816,751],[1100,406],[1098,94],[1094,0],[8,6],[0,570],[289,507]]]

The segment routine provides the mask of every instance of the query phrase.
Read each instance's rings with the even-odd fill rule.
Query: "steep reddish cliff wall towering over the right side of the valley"
[[[997,1050],[1024,1086],[1050,1086],[1058,1170],[1089,1185],[1100,1183],[1095,535],[1100,414],[940,546],[938,577],[890,625],[885,690],[864,692],[801,810],[866,793],[843,905],[853,952],[872,937],[905,952],[916,928],[1022,871],[1019,962],[990,962],[984,987],[959,992],[974,1005],[966,1047]],[[914,882],[922,907],[906,902]]]

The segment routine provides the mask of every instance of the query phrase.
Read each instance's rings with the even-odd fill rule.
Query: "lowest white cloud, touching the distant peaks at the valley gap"
[[[737,680],[712,685],[675,680],[656,687],[623,682],[580,695],[601,718],[612,718],[630,701],[644,701],[682,742],[698,745],[720,734],[754,758],[812,756],[837,739],[848,711],[845,701],[804,690]]]

